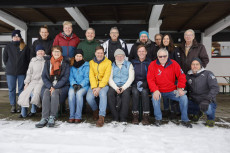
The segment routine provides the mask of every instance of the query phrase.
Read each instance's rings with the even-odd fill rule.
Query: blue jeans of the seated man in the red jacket
[[[165,92],[165,93],[161,93],[161,96],[164,98],[169,98],[171,100],[175,100],[179,102],[180,105],[180,111],[181,111],[181,120],[184,122],[188,122],[188,114],[187,114],[187,110],[188,110],[188,98],[186,95],[180,96],[180,97],[176,97],[176,95],[172,92]],[[159,100],[155,100],[153,98],[153,94],[152,94],[152,102],[153,102],[153,108],[154,108],[154,115],[155,115],[155,119],[156,120],[162,120],[162,113],[161,113],[161,99],[159,98]]]

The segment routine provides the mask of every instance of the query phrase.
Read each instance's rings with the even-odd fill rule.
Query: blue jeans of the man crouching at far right
[[[209,104],[208,110],[205,112],[208,120],[215,120],[216,107],[217,105],[215,102],[211,102]],[[199,111],[200,111],[199,105],[189,100],[188,101],[188,114],[196,115],[199,113]]]

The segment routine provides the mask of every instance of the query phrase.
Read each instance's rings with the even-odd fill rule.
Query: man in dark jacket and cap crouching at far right
[[[198,121],[205,113],[207,115],[206,126],[213,127],[219,86],[214,74],[205,70],[201,64],[199,58],[193,58],[191,70],[187,74],[188,114],[193,114],[193,120]]]

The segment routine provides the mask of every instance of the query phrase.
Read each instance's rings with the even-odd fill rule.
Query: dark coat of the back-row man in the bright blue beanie
[[[138,58],[137,56],[137,47],[141,45],[142,43],[138,39],[135,44],[133,44],[130,54],[129,54],[129,61],[132,61],[133,59]],[[147,50],[147,56],[146,58],[150,59],[151,61],[155,60],[157,58],[157,48],[155,45],[155,42],[148,39],[148,42],[144,44],[146,50]]]

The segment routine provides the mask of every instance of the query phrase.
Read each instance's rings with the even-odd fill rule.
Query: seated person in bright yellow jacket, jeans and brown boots
[[[94,120],[97,121],[96,126],[104,125],[104,117],[107,107],[107,92],[109,90],[108,82],[112,69],[112,62],[104,55],[104,48],[97,46],[95,49],[95,57],[89,62],[89,81],[90,88],[86,95],[86,100],[93,110]],[[99,110],[95,98],[99,98]]]

